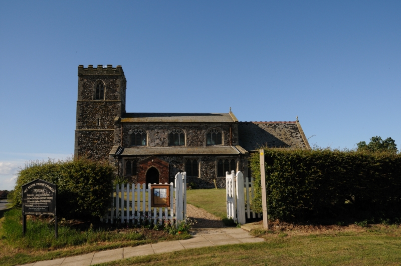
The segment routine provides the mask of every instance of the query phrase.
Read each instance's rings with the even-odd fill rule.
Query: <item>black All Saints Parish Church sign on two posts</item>
[[[57,185],[36,179],[22,186],[23,234],[27,232],[27,215],[54,215],[55,237],[57,228]]]

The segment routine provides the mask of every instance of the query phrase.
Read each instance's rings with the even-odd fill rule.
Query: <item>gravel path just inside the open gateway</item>
[[[186,204],[186,216],[196,220],[196,223],[192,225],[192,228],[227,227],[219,217],[216,217],[212,213],[209,213],[204,209],[197,208],[191,204]]]

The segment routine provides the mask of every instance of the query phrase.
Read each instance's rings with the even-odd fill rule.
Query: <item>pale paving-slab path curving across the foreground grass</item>
[[[159,242],[155,244],[124,247],[106,251],[92,252],[85,255],[63,257],[52,260],[38,261],[24,266],[87,266],[109,262],[117,259],[171,252],[187,248],[263,242],[263,238],[252,237],[248,231],[241,228],[204,228],[191,231],[190,239]]]

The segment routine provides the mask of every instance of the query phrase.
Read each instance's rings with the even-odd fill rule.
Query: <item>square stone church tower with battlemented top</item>
[[[126,83],[121,66],[78,66],[75,156],[108,161],[114,118],[125,113]]]

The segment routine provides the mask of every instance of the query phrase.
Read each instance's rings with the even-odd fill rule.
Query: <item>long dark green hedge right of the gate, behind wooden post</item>
[[[250,162],[253,208],[262,212],[259,153]],[[401,212],[400,154],[265,149],[265,171],[271,219],[388,218]]]

